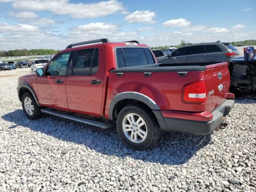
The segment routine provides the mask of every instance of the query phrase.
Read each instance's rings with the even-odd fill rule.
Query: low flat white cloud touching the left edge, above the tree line
[[[27,24],[17,24],[10,25],[4,22],[0,22],[0,32],[26,32],[26,31],[36,31],[38,27],[27,25]]]

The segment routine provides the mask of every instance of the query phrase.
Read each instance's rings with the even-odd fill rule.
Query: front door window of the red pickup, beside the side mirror
[[[56,56],[48,65],[48,75],[66,75],[68,59],[71,52],[65,52]]]

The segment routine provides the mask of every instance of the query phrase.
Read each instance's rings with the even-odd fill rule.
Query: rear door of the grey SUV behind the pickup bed
[[[206,50],[204,45],[190,46],[187,62],[206,62]]]

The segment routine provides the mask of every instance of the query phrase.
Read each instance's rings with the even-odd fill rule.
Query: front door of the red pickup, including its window
[[[56,56],[44,68],[45,76],[37,77],[39,102],[42,106],[68,110],[66,78],[70,54],[71,52],[64,52]]]

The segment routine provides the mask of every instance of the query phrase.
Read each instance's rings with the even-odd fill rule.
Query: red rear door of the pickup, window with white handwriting
[[[100,116],[103,84],[103,45],[97,45],[97,48],[77,50],[72,71],[66,79],[69,110]]]

